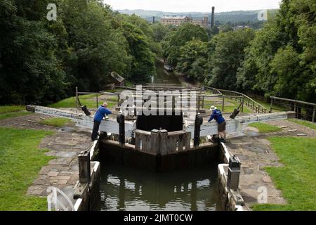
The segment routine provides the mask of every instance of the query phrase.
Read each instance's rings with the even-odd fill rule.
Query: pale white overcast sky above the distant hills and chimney
[[[281,0],[103,0],[115,9],[145,9],[164,12],[208,12],[215,6],[225,11],[279,8]]]

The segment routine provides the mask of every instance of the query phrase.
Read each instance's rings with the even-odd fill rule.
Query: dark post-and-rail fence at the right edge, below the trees
[[[274,108],[274,105],[283,106],[287,111],[293,111],[296,113],[296,118],[301,120],[308,120],[316,122],[316,104],[308,103],[305,101],[298,101],[289,98],[279,98],[271,96],[270,111],[272,110],[283,110],[279,108]]]

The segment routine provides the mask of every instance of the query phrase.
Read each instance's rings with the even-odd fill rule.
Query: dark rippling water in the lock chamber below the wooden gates
[[[216,210],[216,165],[165,174],[101,165],[101,210]]]

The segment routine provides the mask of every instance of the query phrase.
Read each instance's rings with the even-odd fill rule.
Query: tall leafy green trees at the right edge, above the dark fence
[[[284,0],[246,49],[237,74],[240,89],[316,101],[316,5],[312,0]]]

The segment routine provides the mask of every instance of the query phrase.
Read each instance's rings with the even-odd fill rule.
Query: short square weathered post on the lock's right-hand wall
[[[227,187],[228,190],[237,190],[239,186],[239,175],[240,175],[240,167],[241,162],[238,158],[230,157],[230,162],[228,165],[228,180],[227,180]]]

